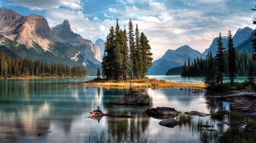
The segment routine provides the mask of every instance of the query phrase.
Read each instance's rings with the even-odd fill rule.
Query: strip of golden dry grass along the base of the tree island
[[[83,83],[82,83],[83,84]],[[85,84],[93,84],[102,87],[114,87],[114,88],[206,88],[204,83],[177,83],[169,82],[165,80],[157,80],[156,78],[147,78],[143,80],[92,80],[87,81]]]

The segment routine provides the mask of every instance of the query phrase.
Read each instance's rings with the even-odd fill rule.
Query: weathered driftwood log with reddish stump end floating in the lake
[[[133,118],[133,116],[129,116],[129,115],[104,114],[102,112],[102,110],[99,109],[99,106],[98,106],[98,109],[96,109],[96,110],[94,110],[94,111],[92,111],[90,113],[91,114],[88,117],[91,118],[91,119],[100,119],[103,116]]]

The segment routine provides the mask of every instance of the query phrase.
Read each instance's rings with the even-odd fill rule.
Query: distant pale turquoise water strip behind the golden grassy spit
[[[203,83],[204,77],[181,77],[180,75],[147,75],[149,78],[157,78],[159,80],[173,81],[173,82],[193,82]],[[239,76],[234,79],[235,82],[243,82],[247,80],[246,76]],[[224,82],[228,82],[229,78],[224,77]]]

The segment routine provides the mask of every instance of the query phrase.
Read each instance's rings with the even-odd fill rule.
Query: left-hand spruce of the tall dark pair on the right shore
[[[219,34],[219,39],[217,40],[218,43],[218,51],[215,55],[216,62],[217,62],[217,81],[219,84],[223,84],[223,74],[225,71],[225,60],[224,60],[224,47],[221,38],[221,33]]]

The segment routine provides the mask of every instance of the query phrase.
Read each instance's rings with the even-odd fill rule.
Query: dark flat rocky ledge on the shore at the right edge
[[[256,99],[232,103],[231,111],[244,112],[247,116],[256,116]]]

